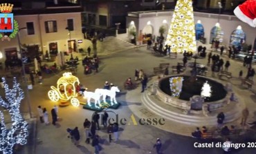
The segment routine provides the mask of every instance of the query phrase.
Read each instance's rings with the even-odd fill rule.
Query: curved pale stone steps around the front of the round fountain
[[[193,126],[216,126],[217,124],[217,114],[214,113],[205,117],[204,115],[186,115],[181,111],[177,112],[177,108],[174,108],[168,104],[161,102],[160,100],[143,93],[141,97],[143,103],[147,108],[156,115],[160,115],[165,119],[169,119],[174,122],[179,122],[181,124],[189,124]],[[232,105],[232,104],[230,104]],[[224,123],[232,122],[241,116],[241,110],[239,109],[239,104],[234,104],[231,106],[232,110],[223,110],[225,114]]]

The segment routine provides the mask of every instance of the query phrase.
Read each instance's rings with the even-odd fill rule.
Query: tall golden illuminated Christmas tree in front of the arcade
[[[196,52],[192,0],[178,0],[165,45],[171,52]]]

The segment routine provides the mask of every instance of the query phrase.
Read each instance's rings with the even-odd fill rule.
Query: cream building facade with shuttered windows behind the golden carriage
[[[65,11],[68,8],[69,11],[76,11]],[[46,51],[69,52],[85,48],[81,11],[80,6],[51,6],[34,12],[31,9],[15,8],[13,13],[14,19],[19,24],[19,35],[10,41],[1,41],[0,51],[3,54],[1,61],[12,56],[21,57],[18,38],[21,46],[37,46],[42,55],[45,55]],[[31,12],[35,15],[31,15]]]

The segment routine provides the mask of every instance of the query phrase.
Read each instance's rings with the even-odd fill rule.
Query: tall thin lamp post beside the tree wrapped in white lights
[[[19,31],[20,30],[24,30],[24,29],[27,29],[27,28],[19,28]],[[19,39],[19,32],[17,33],[17,37],[18,37],[18,44],[19,44],[19,53],[21,54],[21,64],[22,64],[22,73],[24,74],[24,78],[25,78],[25,84],[26,84],[26,95],[27,95],[27,104],[28,104],[28,112],[29,112],[29,116],[30,118],[32,118],[32,113],[31,113],[31,104],[30,104],[30,97],[29,97],[29,92],[28,92],[28,81],[26,79],[26,72],[25,72],[25,66],[24,66],[24,62],[22,60],[22,57],[23,57],[23,53],[22,53],[22,50],[21,50],[21,41]]]

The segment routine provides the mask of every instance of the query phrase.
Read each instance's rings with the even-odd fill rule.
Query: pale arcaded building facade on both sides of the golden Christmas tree
[[[159,29],[165,27],[166,31],[164,37],[166,38],[167,30],[170,27],[173,11],[148,11],[148,12],[129,12],[127,15],[127,29],[128,35],[132,38],[131,34],[136,31],[136,36],[151,34],[159,36]],[[243,30],[245,37],[243,39],[246,44],[253,44],[256,37],[256,30],[253,27],[248,26],[247,23],[240,21],[234,15],[216,15],[203,12],[194,12],[194,23],[201,24],[201,30],[203,30],[203,37],[206,39],[206,43],[210,43],[214,35],[221,37],[222,44],[230,44],[234,32],[237,28]],[[220,27],[221,31],[214,34],[216,27]],[[216,37],[216,36],[215,36]],[[239,40],[240,41],[240,40]]]

